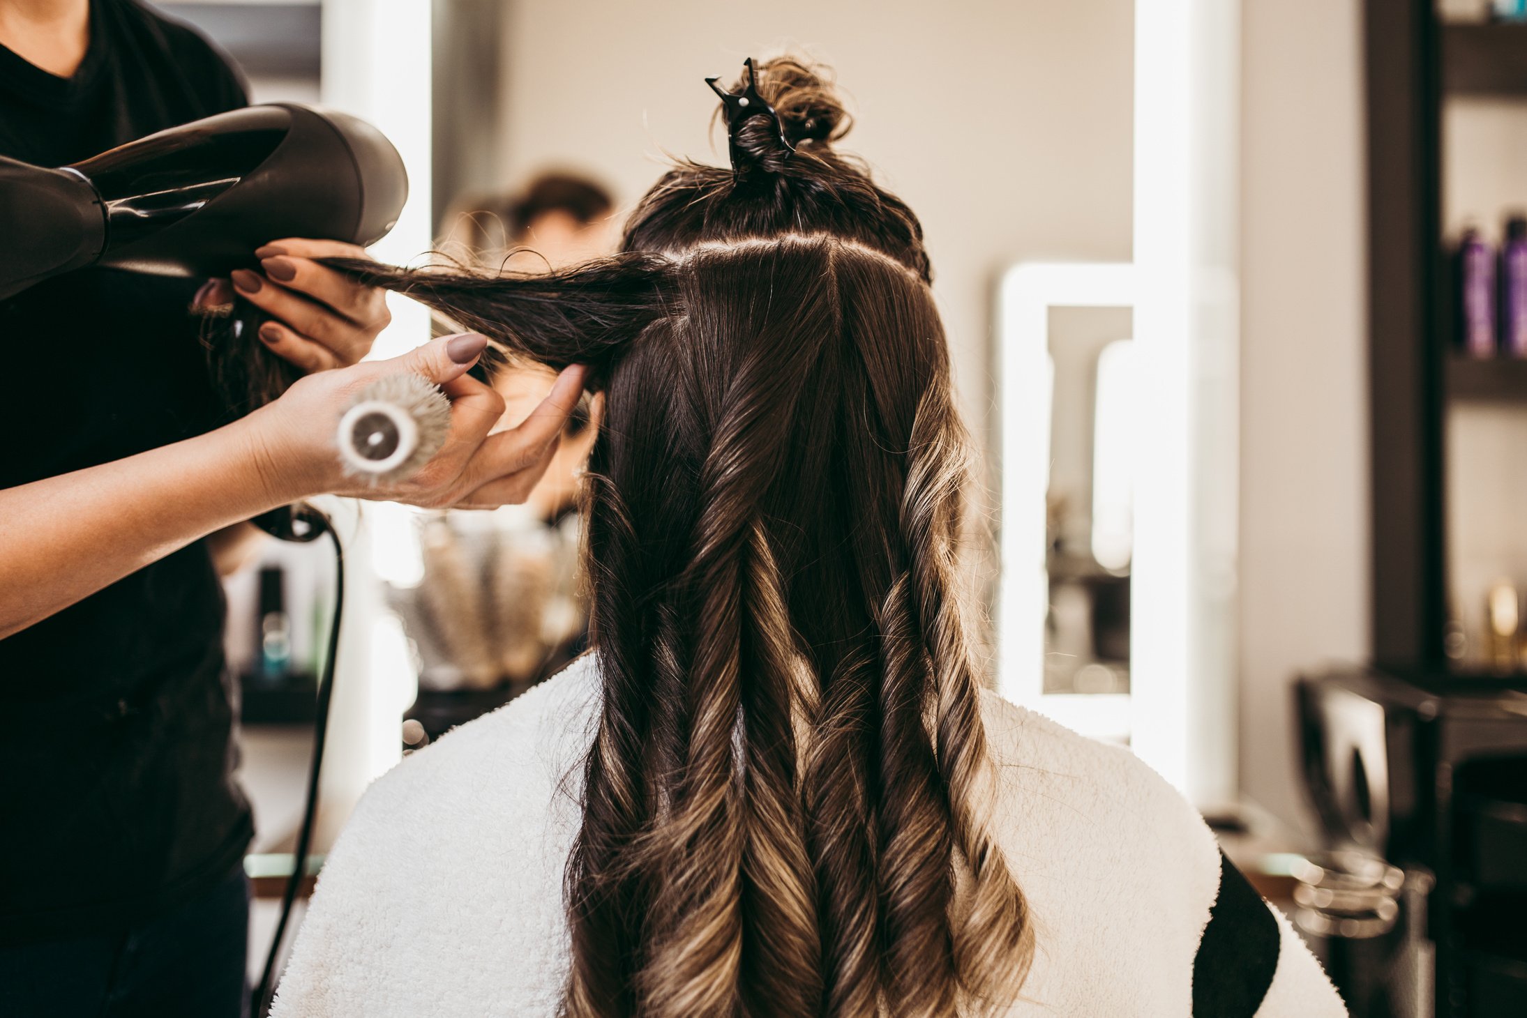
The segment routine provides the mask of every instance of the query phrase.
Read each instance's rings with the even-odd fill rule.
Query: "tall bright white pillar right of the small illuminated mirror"
[[[1136,2],[1132,745],[1199,803],[1235,789],[1238,66],[1238,0]]]

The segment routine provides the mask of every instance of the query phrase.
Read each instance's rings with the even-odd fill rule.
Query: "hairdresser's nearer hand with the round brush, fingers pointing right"
[[[269,493],[278,501],[336,493],[429,508],[524,502],[556,455],[568,414],[583,392],[585,368],[567,368],[519,427],[493,432],[504,398],[467,374],[486,346],[475,333],[444,336],[402,357],[299,379],[279,400],[244,418]],[[435,382],[450,398],[450,432],[412,478],[371,487],[344,473],[334,432],[356,392],[403,371]]]

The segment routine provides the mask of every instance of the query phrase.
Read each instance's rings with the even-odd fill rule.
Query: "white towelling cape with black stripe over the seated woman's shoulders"
[[[377,780],[325,861],[273,1016],[556,1015],[568,958],[562,876],[597,707],[599,672],[585,656]],[[1167,781],[1128,751],[994,694],[983,714],[1002,775],[999,841],[1038,945],[1011,1015],[1186,1018],[1209,940],[1200,994],[1211,978],[1231,997],[1257,981],[1257,966],[1225,948],[1245,939],[1235,928],[1205,939],[1220,853]],[[1272,978],[1238,1007],[1248,1018],[1345,1015],[1272,911]],[[1199,1003],[1209,1006],[1229,1009]]]

